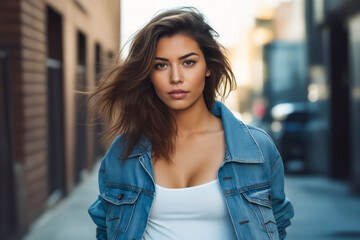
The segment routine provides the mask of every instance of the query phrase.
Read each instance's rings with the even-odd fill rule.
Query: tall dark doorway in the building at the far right
[[[333,178],[350,176],[350,105],[348,30],[341,19],[330,22],[331,167]]]

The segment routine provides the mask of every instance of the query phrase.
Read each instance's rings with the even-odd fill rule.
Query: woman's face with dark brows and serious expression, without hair
[[[156,94],[173,110],[205,103],[205,77],[210,76],[197,42],[183,34],[158,40],[150,78]]]

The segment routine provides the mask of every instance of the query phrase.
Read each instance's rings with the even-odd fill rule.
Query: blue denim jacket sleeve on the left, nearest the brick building
[[[105,185],[104,175],[105,175],[105,170],[104,170],[104,160],[103,160],[99,169],[100,194],[104,190],[104,185]],[[90,217],[96,224],[96,239],[100,239],[100,240],[107,239],[106,209],[107,209],[107,204],[101,196],[99,196],[98,199],[88,209]]]

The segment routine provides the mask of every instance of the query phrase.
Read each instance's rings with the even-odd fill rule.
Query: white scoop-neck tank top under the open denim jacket
[[[218,180],[188,188],[155,185],[143,240],[236,239]]]

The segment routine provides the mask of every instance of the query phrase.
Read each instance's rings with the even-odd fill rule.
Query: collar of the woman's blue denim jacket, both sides
[[[221,102],[216,101],[211,112],[222,119],[225,131],[226,154],[225,162],[263,163],[264,157],[258,143],[251,135],[247,126],[238,120]],[[144,138],[135,146],[129,158],[144,154],[151,156],[151,143]]]

